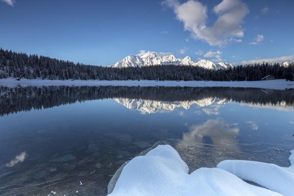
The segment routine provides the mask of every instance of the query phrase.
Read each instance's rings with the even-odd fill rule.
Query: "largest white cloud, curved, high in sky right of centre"
[[[218,19],[212,26],[207,26],[207,6],[199,1],[181,4],[177,0],[165,0],[162,4],[173,8],[177,19],[184,23],[185,30],[191,31],[194,39],[204,40],[211,46],[223,47],[233,41],[241,42],[234,37],[244,37],[241,24],[249,9],[241,0],[222,0],[216,5],[213,11]]]

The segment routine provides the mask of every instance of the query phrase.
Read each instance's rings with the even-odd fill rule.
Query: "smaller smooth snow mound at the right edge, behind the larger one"
[[[217,167],[284,196],[294,196],[294,150],[291,151],[291,154],[289,160],[292,165],[289,168],[241,160],[222,161]]]

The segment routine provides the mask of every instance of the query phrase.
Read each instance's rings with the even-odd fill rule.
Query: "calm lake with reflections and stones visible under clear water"
[[[226,159],[288,167],[294,90],[0,86],[0,196],[107,195],[158,141],[190,172]]]

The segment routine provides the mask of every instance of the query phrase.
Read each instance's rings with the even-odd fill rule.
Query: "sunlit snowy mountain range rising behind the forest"
[[[126,67],[141,67],[153,65],[180,65],[180,66],[199,66],[206,69],[218,70],[223,68],[232,68],[229,63],[220,62],[214,64],[212,61],[201,59],[197,62],[191,60],[189,56],[185,58],[176,58],[174,55],[159,56],[156,52],[148,51],[144,54],[129,55],[123,60],[116,62],[111,67],[126,68]]]

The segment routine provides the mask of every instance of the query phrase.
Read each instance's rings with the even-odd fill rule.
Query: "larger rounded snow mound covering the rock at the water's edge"
[[[123,168],[110,196],[281,196],[219,168],[188,171],[175,149],[160,145]]]

